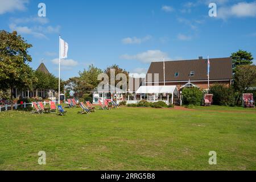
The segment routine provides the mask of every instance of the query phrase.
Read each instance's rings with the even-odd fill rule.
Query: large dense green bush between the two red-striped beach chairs
[[[213,94],[214,105],[234,106],[236,104],[236,93],[232,88],[214,84],[210,86],[209,93]]]

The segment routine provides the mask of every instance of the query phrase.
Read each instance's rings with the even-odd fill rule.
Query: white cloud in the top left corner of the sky
[[[26,10],[27,0],[0,0],[0,14]]]

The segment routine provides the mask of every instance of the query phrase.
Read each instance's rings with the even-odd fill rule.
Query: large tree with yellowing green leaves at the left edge
[[[24,38],[4,30],[0,31],[0,88],[1,89],[32,89],[36,81],[32,68],[28,63],[32,61],[28,55],[28,44]],[[11,92],[13,100],[13,92]]]

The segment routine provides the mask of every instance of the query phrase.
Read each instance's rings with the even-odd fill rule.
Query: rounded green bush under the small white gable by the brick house
[[[203,98],[203,92],[196,87],[184,88],[182,91],[184,105],[200,106]]]

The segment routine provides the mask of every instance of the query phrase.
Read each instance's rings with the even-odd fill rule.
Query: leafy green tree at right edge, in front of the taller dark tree
[[[250,86],[256,84],[256,66],[240,65],[234,74],[234,89],[238,92],[237,104],[242,93],[245,93]]]

